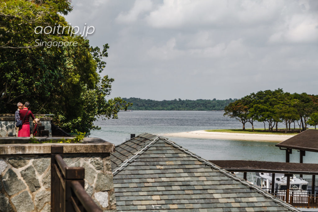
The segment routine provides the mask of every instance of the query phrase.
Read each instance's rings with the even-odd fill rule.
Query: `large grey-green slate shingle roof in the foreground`
[[[118,211],[298,211],[163,137],[143,133],[110,159]]]

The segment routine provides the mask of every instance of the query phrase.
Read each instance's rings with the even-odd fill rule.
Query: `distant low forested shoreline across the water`
[[[133,106],[129,106],[129,110],[199,110],[199,111],[212,111],[212,110],[224,110],[225,106],[234,102],[237,99],[174,99],[174,100],[162,100],[156,101],[151,99],[140,98],[122,98],[124,101],[133,103]]]

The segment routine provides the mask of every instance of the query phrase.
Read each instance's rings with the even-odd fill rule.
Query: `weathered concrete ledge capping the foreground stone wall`
[[[60,137],[35,137],[39,140],[57,140]],[[65,139],[72,139],[68,137]],[[99,138],[86,138],[85,143],[41,143],[33,144],[29,137],[0,138],[0,143],[15,141],[20,143],[0,144],[0,154],[51,154],[52,145],[63,145],[64,153],[111,153],[115,145]],[[96,140],[96,141],[94,141]]]

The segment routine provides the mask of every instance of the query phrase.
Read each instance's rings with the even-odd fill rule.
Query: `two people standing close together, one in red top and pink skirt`
[[[16,123],[18,120],[22,121],[22,126],[16,126],[16,134],[18,137],[30,137],[30,116],[37,124],[38,119],[34,119],[33,113],[29,110],[30,102],[25,102],[24,105],[19,102],[17,103],[18,109],[15,113]]]

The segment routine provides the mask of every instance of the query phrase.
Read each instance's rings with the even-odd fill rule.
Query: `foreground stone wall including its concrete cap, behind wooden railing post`
[[[20,140],[26,143],[25,138]],[[85,168],[86,192],[104,211],[115,211],[109,160],[114,144],[95,138],[84,142],[1,144],[8,141],[0,138],[0,211],[50,211],[51,145],[63,145],[67,166]]]

